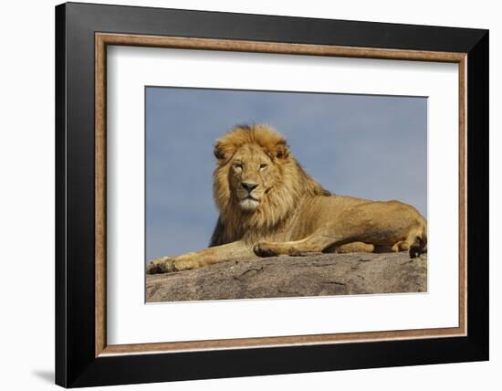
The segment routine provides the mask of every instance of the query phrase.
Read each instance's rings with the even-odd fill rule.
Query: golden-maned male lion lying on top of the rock
[[[219,217],[209,248],[155,259],[147,273],[314,252],[409,251],[413,259],[426,251],[427,222],[413,206],[331,194],[268,125],[236,126],[214,156]]]

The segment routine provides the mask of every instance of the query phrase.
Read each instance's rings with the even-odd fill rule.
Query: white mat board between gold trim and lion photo
[[[429,97],[428,292],[144,305],[145,85]],[[458,325],[457,64],[112,47],[107,93],[110,344]]]

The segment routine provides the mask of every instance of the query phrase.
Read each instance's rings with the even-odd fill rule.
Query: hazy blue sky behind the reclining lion
[[[147,87],[146,260],[207,246],[214,141],[249,122],[283,133],[331,192],[399,199],[426,217],[426,98]]]

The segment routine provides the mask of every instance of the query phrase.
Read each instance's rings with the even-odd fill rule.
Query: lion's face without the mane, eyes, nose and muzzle
[[[255,211],[277,182],[277,165],[256,144],[241,146],[228,164],[229,187],[235,202],[245,211]]]

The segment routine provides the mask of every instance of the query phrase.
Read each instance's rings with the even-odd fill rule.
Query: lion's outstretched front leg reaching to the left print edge
[[[256,255],[243,242],[237,241],[201,251],[189,252],[178,257],[162,257],[154,259],[147,265],[147,274],[169,273],[187,269],[197,269],[214,263],[233,259],[253,258]]]

